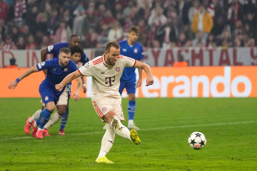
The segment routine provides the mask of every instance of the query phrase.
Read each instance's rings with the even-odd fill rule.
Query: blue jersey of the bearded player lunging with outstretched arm
[[[39,71],[47,69],[47,76],[41,85],[51,89],[55,95],[61,95],[65,89],[63,87],[62,91],[57,91],[55,85],[59,84],[67,75],[78,70],[75,62],[69,61],[67,66],[61,67],[59,64],[59,59],[47,60],[37,64],[37,69]]]

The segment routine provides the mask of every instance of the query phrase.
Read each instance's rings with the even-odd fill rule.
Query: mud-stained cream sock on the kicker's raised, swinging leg
[[[111,125],[115,131],[115,133],[117,133],[119,136],[127,138],[129,140],[130,139],[130,131],[128,130],[127,127],[125,127],[124,125],[122,125],[120,119],[117,116],[113,116],[111,119]],[[108,126],[108,125],[107,125]],[[132,140],[131,140],[132,141]]]

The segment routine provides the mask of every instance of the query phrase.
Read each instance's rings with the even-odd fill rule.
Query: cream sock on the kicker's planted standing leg
[[[97,159],[105,156],[110,151],[110,149],[113,146],[114,138],[115,138],[115,131],[113,127],[109,123],[107,123],[106,132],[105,132],[105,135],[103,136],[101,149]]]

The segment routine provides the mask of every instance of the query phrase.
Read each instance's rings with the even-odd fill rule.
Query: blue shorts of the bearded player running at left
[[[47,88],[43,85],[39,86],[39,93],[40,93],[41,98],[42,98],[42,100],[45,104],[53,101],[56,105],[58,100],[59,100],[59,97],[60,97],[60,95],[55,95],[53,93],[53,90],[51,90],[51,89],[49,89],[49,88]]]

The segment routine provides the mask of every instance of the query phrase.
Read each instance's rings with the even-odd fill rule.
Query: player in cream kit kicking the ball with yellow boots
[[[115,133],[133,141],[136,145],[141,143],[136,131],[125,127],[121,121],[125,120],[121,106],[121,95],[119,93],[120,78],[125,67],[143,69],[146,74],[146,86],[152,85],[154,80],[150,66],[120,55],[120,45],[116,41],[108,42],[105,46],[103,56],[87,62],[77,71],[69,74],[64,80],[55,85],[55,89],[61,91],[63,87],[80,76],[92,77],[91,100],[96,113],[103,122],[107,122],[107,129],[102,139],[101,149],[97,157],[97,163],[114,163],[106,158],[111,149]]]

